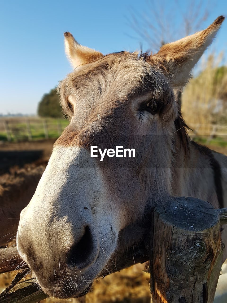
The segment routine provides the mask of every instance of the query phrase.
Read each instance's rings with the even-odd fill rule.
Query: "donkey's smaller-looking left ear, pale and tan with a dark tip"
[[[79,65],[94,62],[103,57],[103,54],[80,45],[70,32],[65,32],[65,53],[74,68]]]

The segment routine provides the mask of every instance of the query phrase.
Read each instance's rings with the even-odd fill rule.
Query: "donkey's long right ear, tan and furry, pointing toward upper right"
[[[191,70],[212,43],[223,20],[219,16],[208,28],[194,35],[163,45],[151,58],[160,65],[173,87],[183,86],[191,78]]]

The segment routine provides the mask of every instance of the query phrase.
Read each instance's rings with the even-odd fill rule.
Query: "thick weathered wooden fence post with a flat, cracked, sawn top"
[[[171,198],[153,213],[151,291],[155,303],[212,303],[224,249],[218,211],[195,198]]]

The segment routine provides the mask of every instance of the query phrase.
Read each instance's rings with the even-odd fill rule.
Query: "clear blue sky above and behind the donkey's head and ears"
[[[64,55],[65,31],[71,32],[79,43],[104,54],[124,49],[133,51],[140,48],[140,42],[143,50],[149,49],[147,41],[130,26],[132,11],[142,18],[149,16],[148,2],[1,0],[0,113],[35,114],[42,95],[71,71]],[[166,1],[167,12],[174,9],[175,3],[175,0]],[[185,5],[181,4],[184,12]],[[210,1],[210,5],[210,15],[203,27],[227,13],[224,0]],[[173,23],[177,30],[180,18],[173,18]],[[226,51],[226,33],[227,20],[212,51]]]

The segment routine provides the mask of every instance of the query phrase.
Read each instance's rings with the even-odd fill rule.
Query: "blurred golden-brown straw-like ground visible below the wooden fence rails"
[[[137,264],[95,281],[92,292],[81,301],[47,298],[40,303],[150,303],[150,287],[148,286],[150,274],[144,272],[143,269],[144,265]],[[11,283],[17,273],[18,271],[0,274],[0,291]],[[31,276],[26,276],[22,281],[28,278]]]

